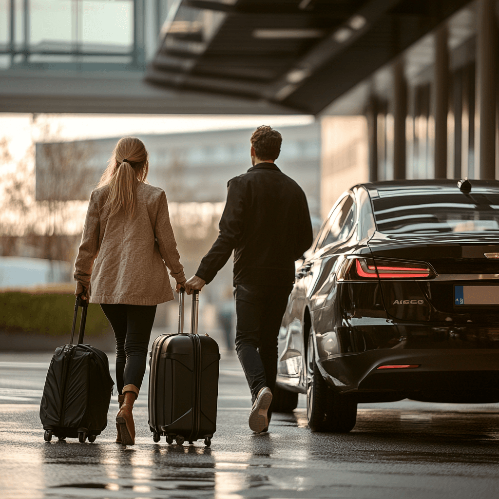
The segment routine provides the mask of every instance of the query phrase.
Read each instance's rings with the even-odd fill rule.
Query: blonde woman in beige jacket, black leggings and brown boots
[[[90,195],[74,265],[75,294],[100,303],[116,338],[116,442],[123,445],[135,444],[132,408],[146,369],[156,306],[173,299],[167,267],[177,292],[186,281],[165,192],[146,183],[148,169],[142,141],[120,139]]]

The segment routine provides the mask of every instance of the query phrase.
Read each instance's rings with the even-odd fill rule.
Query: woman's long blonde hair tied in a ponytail
[[[118,141],[102,174],[97,189],[107,186],[104,216],[112,217],[123,210],[125,218],[135,213],[136,189],[145,182],[149,160],[144,143],[136,137],[124,137]]]

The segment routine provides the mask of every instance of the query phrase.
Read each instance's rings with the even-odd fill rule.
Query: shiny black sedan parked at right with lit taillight
[[[499,402],[499,182],[414,180],[344,193],[299,262],[274,411],[307,395],[314,431],[357,404]]]

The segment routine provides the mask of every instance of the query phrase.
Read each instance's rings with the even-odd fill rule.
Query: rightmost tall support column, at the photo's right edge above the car
[[[475,135],[481,179],[496,177],[496,67],[498,32],[495,0],[479,0],[477,19],[477,105],[480,130]]]

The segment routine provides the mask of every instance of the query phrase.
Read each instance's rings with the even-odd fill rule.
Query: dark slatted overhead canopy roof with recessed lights
[[[155,85],[317,114],[469,0],[178,0]]]

